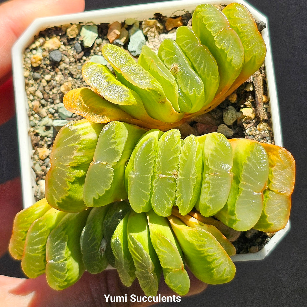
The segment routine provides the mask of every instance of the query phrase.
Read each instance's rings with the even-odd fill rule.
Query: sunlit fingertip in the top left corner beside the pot
[[[27,26],[38,17],[76,13],[84,0],[10,0],[0,5],[0,80],[11,70],[11,48]]]

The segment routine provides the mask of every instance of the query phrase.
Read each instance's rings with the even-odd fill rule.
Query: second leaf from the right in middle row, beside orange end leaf
[[[258,142],[232,139],[231,146],[234,179],[227,203],[216,217],[235,230],[245,231],[254,227],[261,216],[269,162]]]

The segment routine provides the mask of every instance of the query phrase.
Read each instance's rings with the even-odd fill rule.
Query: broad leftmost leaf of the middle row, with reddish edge
[[[50,206],[68,212],[87,208],[83,200],[85,175],[103,127],[84,119],[69,122],[56,135],[45,185]]]

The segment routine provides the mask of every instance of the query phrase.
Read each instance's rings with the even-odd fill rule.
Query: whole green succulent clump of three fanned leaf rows
[[[125,286],[138,278],[147,296],[161,272],[185,295],[185,265],[206,283],[229,282],[239,231],[285,227],[293,157],[219,133],[182,139],[172,128],[217,106],[261,66],[266,46],[253,17],[238,3],[204,4],[192,29],[179,27],[158,54],[143,46],[137,63],[115,45],[102,53],[115,76],[88,62],[90,88],[65,95],[65,107],[86,119],[57,134],[46,198],[15,217],[11,255],[57,290],[108,264]]]

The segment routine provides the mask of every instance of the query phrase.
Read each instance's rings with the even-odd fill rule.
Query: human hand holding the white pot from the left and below
[[[84,0],[11,0],[0,5],[0,149],[3,148],[6,151],[4,156],[0,155],[3,159],[0,163],[0,216],[2,217],[0,256],[7,250],[14,216],[22,209],[20,178],[14,176],[14,172],[7,171],[12,167],[16,169],[18,160],[17,153],[10,152],[11,147],[8,146],[15,132],[7,126],[15,115],[11,47],[34,18],[82,10],[84,10]],[[11,160],[6,161],[6,157],[11,157]],[[199,293],[206,288],[206,284],[196,279],[193,274],[189,272],[189,275],[191,280],[189,295]],[[161,296],[175,294],[164,282],[160,283],[158,293]],[[95,275],[85,272],[75,285],[62,291],[52,290],[46,282],[45,275],[35,279],[0,276],[2,306],[108,305],[104,294],[110,294],[110,297],[125,296],[125,294],[127,297],[131,294],[138,297],[144,296],[137,280],[129,288],[123,286],[116,270],[106,270]],[[127,300],[127,303],[122,305],[148,306],[150,303],[130,303]]]

